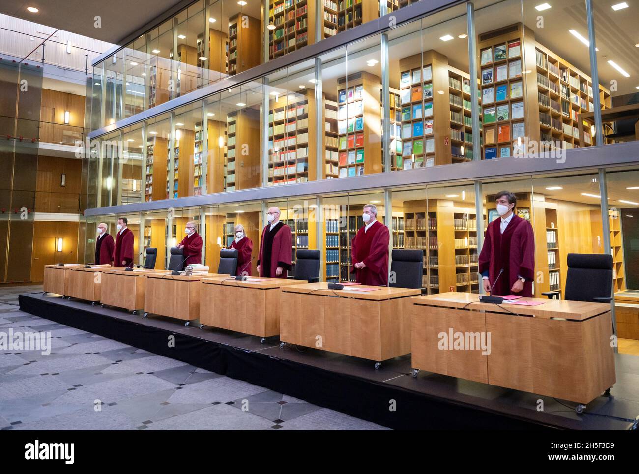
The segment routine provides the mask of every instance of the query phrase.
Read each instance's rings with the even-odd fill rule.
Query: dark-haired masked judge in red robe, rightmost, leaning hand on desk
[[[535,275],[535,236],[532,226],[514,214],[517,206],[514,194],[502,191],[496,199],[497,212],[501,217],[488,224],[479,254],[479,273],[484,290],[497,296],[516,294],[532,298]]]

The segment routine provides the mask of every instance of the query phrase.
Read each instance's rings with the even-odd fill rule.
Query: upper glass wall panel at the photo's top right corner
[[[604,144],[639,137],[639,38],[636,2],[593,0]],[[593,121],[584,120],[588,128]]]

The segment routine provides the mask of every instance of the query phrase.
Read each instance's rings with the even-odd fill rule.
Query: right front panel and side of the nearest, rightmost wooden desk
[[[612,316],[558,321],[486,313],[488,383],[587,404],[615,383]]]

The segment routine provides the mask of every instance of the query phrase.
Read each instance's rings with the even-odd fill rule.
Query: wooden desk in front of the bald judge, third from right
[[[305,280],[235,277],[203,279],[200,323],[264,338],[280,333],[281,288]]]

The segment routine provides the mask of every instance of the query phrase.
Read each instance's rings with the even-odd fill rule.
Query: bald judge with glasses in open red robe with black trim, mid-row
[[[279,208],[269,208],[266,224],[259,240],[258,275],[266,278],[286,278],[293,270],[291,259],[293,233],[280,218]]]

